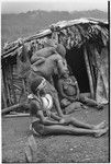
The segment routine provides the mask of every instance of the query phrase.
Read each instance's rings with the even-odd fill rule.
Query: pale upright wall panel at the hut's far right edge
[[[96,99],[98,103],[108,103],[109,99],[109,78],[108,78],[108,50],[103,48],[101,54],[96,49],[96,58],[98,61],[98,79]]]

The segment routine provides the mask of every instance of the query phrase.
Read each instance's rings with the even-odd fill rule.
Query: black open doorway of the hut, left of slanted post
[[[67,50],[66,60],[73,71],[73,74],[78,81],[80,92],[90,92],[89,79],[84,58],[84,48],[75,48]]]

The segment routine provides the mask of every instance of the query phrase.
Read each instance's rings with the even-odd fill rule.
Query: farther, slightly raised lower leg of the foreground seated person
[[[65,124],[66,125],[73,125],[75,127],[78,128],[84,128],[84,129],[100,129],[100,128],[104,128],[106,121],[102,121],[101,124],[95,126],[95,125],[89,125],[86,122],[82,122],[74,117],[69,117],[69,116],[65,116]]]

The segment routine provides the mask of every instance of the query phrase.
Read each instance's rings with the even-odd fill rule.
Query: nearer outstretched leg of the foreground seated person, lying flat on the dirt
[[[99,129],[99,130],[91,130],[91,129],[82,129],[82,128],[74,128],[69,126],[44,126],[44,132],[43,134],[91,134],[95,137],[100,137],[108,131],[108,128],[106,129]]]

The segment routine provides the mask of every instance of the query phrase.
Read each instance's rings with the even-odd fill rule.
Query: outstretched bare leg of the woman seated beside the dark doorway
[[[81,94],[79,95],[79,102],[81,102],[88,106],[91,106],[91,107],[97,107],[98,109],[103,108],[103,106],[101,104],[98,104],[96,101],[85,97]]]

